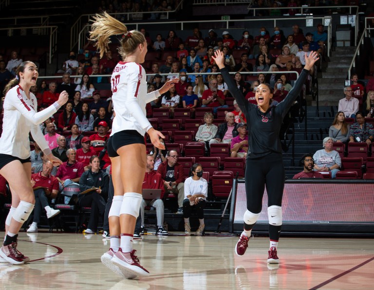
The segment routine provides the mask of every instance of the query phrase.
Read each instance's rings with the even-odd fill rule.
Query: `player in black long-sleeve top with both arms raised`
[[[281,155],[279,132],[284,116],[298,97],[310,68],[318,60],[317,53],[311,52],[305,58],[305,67],[287,97],[277,106],[272,106],[269,85],[259,85],[256,90],[257,105],[249,103],[224,67],[224,55],[215,52],[215,61],[221,69],[224,82],[245,115],[248,123],[248,154],[245,168],[245,191],[247,210],[244,213],[244,230],[235,247],[235,253],[242,256],[248,247],[248,239],[262,209],[262,196],[266,185],[268,195],[268,217],[270,249],[268,263],[279,263],[278,240],[282,224],[282,195],[284,188],[284,168]]]

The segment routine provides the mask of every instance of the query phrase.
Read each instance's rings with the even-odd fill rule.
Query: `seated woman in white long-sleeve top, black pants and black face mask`
[[[183,201],[185,234],[187,236],[191,234],[189,218],[191,217],[192,209],[195,209],[200,223],[195,235],[202,236],[205,228],[204,208],[206,205],[206,198],[208,197],[208,182],[202,177],[203,167],[199,163],[195,163],[191,167],[189,175],[190,176],[185,181],[185,196]]]

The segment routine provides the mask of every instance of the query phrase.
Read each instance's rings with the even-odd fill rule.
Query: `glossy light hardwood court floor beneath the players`
[[[268,269],[268,238],[250,239],[238,257],[237,237],[148,235],[134,248],[150,277],[122,280],[100,262],[109,241],[87,236],[21,233],[19,250],[32,261],[0,264],[0,289],[374,289],[373,239],[282,238],[281,264]]]

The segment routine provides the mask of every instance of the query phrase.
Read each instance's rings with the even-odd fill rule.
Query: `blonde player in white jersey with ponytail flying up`
[[[159,90],[147,94],[144,62],[147,42],[142,33],[128,31],[120,21],[107,13],[96,15],[92,25],[91,40],[97,42],[102,57],[108,48],[111,35],[122,35],[118,49],[123,62],[114,68],[112,102],[115,112],[112,134],[108,140],[108,154],[112,160],[114,197],[109,211],[111,248],[101,260],[115,273],[120,271],[124,278],[148,276],[149,272],[140,265],[132,249],[132,236],[136,218],[142,202],[142,182],[146,171],[145,133],[153,145],[165,149],[159,138],[165,138],[151,126],[146,118],[146,104],[178,82],[170,80]]]

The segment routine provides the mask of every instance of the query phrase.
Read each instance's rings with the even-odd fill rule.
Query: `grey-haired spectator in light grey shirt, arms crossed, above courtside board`
[[[331,178],[335,178],[337,172],[340,171],[341,158],[337,151],[333,150],[334,141],[331,137],[323,139],[322,145],[324,149],[316,151],[313,155],[315,162],[314,170],[331,171]]]

